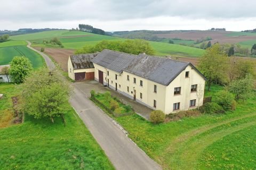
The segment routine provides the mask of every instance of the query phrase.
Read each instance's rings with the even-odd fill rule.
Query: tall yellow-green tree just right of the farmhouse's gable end
[[[214,44],[212,47],[207,48],[205,55],[200,58],[198,68],[207,78],[208,91],[210,91],[213,82],[226,80],[225,68],[227,60],[228,57],[221,50],[219,44]]]

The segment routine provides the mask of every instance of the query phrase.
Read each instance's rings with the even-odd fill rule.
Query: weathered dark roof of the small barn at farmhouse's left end
[[[99,53],[70,55],[73,69],[76,70],[94,68],[92,64],[92,59],[98,54]]]

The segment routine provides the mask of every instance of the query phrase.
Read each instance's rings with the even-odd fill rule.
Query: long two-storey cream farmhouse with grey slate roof
[[[94,68],[91,66],[89,70],[94,72],[94,79],[143,105],[165,114],[203,105],[204,94],[198,103],[196,91],[199,86],[204,89],[205,77],[191,63],[107,49],[94,55],[91,60]],[[69,77],[76,80],[72,74],[74,59],[70,58],[74,56],[69,57]],[[87,72],[83,69],[76,69],[75,73],[81,70],[86,79]]]

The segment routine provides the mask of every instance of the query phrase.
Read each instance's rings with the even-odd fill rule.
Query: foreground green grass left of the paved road
[[[0,84],[0,90],[15,95],[17,89],[12,84]],[[1,111],[10,103],[0,106]],[[114,169],[70,106],[65,118],[66,127],[60,118],[53,124],[49,119],[35,120],[26,115],[25,123],[0,129],[1,169]]]

